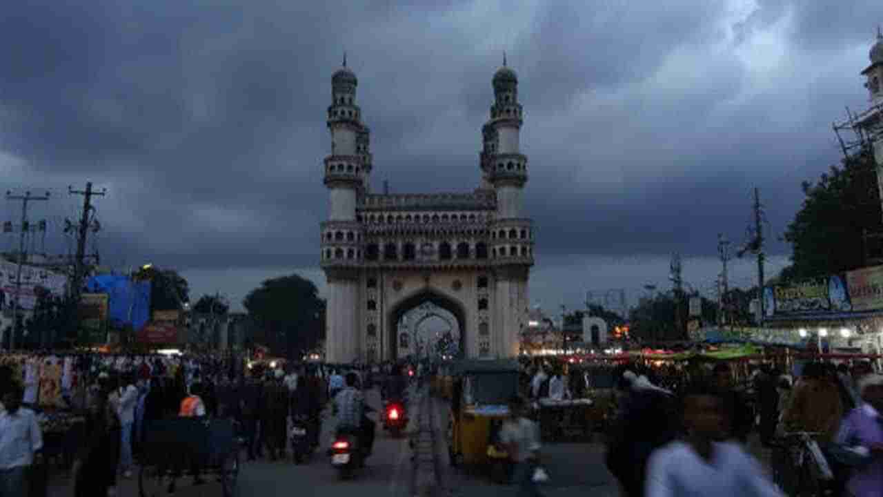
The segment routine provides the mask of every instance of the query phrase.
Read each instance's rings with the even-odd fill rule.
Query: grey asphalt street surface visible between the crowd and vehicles
[[[381,398],[378,390],[370,390],[366,398],[374,409],[381,410]],[[415,412],[416,395],[411,395],[411,424],[409,432],[414,430],[418,415]],[[433,399],[434,430],[436,432],[438,468],[441,486],[437,495],[457,497],[478,497],[479,495],[514,495],[515,486],[496,485],[478,472],[467,474],[462,469],[449,466],[445,430],[447,426],[447,407],[442,401]],[[326,413],[328,416],[328,413]],[[376,418],[376,414],[371,414]],[[237,494],[240,496],[260,495],[260,497],[291,497],[291,495],[321,495],[323,497],[353,496],[357,497],[411,497],[413,493],[413,468],[411,464],[411,448],[408,439],[392,439],[378,424],[377,438],[374,442],[374,454],[368,459],[365,470],[351,480],[341,481],[325,456],[332,436],[334,423],[328,418],[323,423],[321,437],[322,447],[308,463],[296,465],[291,458],[271,463],[260,460],[245,463],[245,454],[241,461]],[[543,491],[552,496],[583,495],[591,491],[599,497],[617,495],[615,483],[604,467],[602,448],[599,444],[555,444],[543,448],[543,460],[551,480],[543,486]],[[192,486],[191,478],[178,480],[177,497],[220,497],[221,486],[211,478],[204,486]],[[71,480],[53,478],[49,485],[49,497],[70,497],[72,495]],[[117,487],[119,497],[134,497],[138,493],[138,474],[135,478],[120,478]]]

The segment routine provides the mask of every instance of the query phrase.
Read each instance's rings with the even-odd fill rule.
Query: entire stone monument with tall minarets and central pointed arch
[[[396,359],[403,317],[426,302],[456,320],[463,356],[516,356],[534,239],[521,212],[527,157],[519,151],[515,72],[504,63],[494,74],[494,103],[481,130],[481,183],[469,193],[372,193],[370,131],[357,85],[344,61],[331,78],[331,154],[324,161],[326,360]]]

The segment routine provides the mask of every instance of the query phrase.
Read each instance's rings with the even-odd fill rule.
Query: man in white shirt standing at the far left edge
[[[0,497],[27,497],[27,469],[43,447],[34,411],[21,407],[22,394],[13,387],[0,413]]]

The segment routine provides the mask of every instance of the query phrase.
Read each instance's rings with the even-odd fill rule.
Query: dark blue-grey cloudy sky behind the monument
[[[663,287],[673,252],[708,291],[717,233],[744,240],[752,187],[767,271],[788,263],[776,238],[800,182],[838,157],[832,120],[867,103],[877,23],[873,0],[14,2],[0,18],[0,181],[48,188],[31,212],[55,229],[76,215],[69,184],[106,187],[104,264],[176,267],[235,306],[286,272],[323,287],[324,119],[343,50],[372,185],[402,193],[478,185],[505,50],[538,226],[532,301]],[[14,220],[19,204],[0,212]],[[71,247],[51,230],[45,243]],[[732,279],[753,271],[735,261]]]

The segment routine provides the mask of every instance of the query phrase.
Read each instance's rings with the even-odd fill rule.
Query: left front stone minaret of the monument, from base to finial
[[[358,80],[343,67],[331,76],[328,130],[331,154],[325,157],[328,221],[322,224],[322,268],[328,279],[326,360],[350,363],[361,356],[358,264],[363,259],[362,229],[356,218],[358,199],[371,172],[369,130],[356,104]]]

